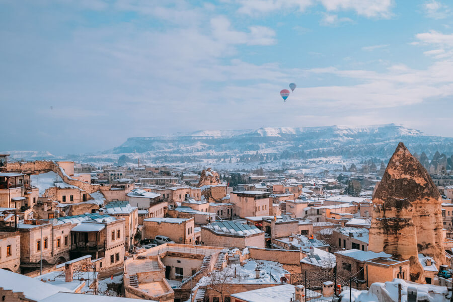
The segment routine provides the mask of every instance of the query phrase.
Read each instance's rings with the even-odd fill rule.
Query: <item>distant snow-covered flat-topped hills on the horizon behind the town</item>
[[[375,158],[387,161],[399,141],[403,141],[413,154],[417,153],[425,165],[429,165],[426,158],[430,162],[435,156],[434,162],[443,164],[453,154],[452,137],[431,136],[416,129],[385,124],[202,130],[167,136],[129,137],[112,149],[93,154],[69,155],[64,159],[113,163],[121,155],[127,155],[126,162],[134,158],[132,161],[136,162],[139,157],[159,163],[195,163],[209,159],[262,162],[340,156],[344,159]],[[50,153],[11,153],[14,153],[15,158],[54,159]]]

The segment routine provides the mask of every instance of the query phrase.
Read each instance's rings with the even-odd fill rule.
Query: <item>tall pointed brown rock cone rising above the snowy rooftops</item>
[[[419,161],[400,142],[373,195],[368,250],[410,259],[411,275],[422,277],[417,254],[445,263],[442,199]]]

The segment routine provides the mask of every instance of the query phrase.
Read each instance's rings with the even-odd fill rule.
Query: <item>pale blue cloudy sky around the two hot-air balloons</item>
[[[1,150],[336,124],[453,136],[446,0],[0,0],[0,41]]]

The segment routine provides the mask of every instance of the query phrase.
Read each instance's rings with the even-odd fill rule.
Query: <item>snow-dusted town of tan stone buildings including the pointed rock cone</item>
[[[317,177],[3,154],[0,296],[450,300],[453,176],[439,158],[401,142],[387,165]]]

